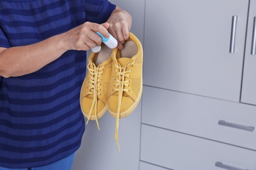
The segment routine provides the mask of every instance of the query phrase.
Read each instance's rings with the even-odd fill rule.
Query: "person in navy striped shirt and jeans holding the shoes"
[[[85,129],[79,92],[98,31],[129,38],[106,0],[0,2],[0,169],[70,169]]]

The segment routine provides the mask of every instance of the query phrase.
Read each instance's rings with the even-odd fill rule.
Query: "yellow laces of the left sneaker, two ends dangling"
[[[98,126],[98,118],[97,118],[98,95],[101,95],[100,82],[102,81],[102,79],[100,79],[100,77],[104,73],[104,67],[105,67],[104,65],[102,66],[98,65],[98,67],[96,67],[95,63],[92,64],[92,67],[90,67],[90,64],[87,65],[87,69],[89,71],[89,86],[88,86],[87,92],[85,93],[89,95],[90,94],[93,95],[93,103],[91,105],[91,109],[89,110],[89,115],[88,115],[86,124],[88,124],[89,120],[91,119],[93,108],[95,108],[95,120]],[[98,129],[100,129],[99,126],[98,126]]]

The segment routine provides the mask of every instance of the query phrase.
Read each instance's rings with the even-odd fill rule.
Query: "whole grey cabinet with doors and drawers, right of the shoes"
[[[140,170],[256,169],[256,0],[145,4]]]

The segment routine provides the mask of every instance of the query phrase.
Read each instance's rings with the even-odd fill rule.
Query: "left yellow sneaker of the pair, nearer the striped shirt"
[[[98,118],[108,109],[106,103],[112,67],[111,55],[114,52],[116,50],[102,45],[100,52],[91,52],[88,58],[87,75],[80,93],[80,106],[87,123],[89,120],[96,120],[98,126]]]

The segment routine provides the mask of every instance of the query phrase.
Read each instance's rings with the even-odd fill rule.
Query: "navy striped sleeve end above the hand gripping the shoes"
[[[88,22],[102,24],[108,20],[116,5],[107,0],[85,0],[85,13]]]

